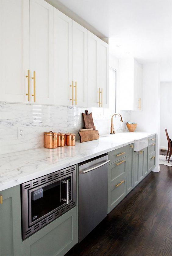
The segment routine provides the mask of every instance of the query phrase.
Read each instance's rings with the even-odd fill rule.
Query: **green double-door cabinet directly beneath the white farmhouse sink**
[[[148,172],[148,148],[134,152],[134,187],[147,175]]]

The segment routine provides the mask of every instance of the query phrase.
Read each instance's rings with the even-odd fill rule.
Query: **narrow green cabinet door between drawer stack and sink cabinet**
[[[134,188],[134,143],[128,145],[127,194]]]

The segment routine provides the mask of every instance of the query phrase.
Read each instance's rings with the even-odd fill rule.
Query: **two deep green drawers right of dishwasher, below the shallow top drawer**
[[[126,196],[127,156],[109,165],[108,212]]]

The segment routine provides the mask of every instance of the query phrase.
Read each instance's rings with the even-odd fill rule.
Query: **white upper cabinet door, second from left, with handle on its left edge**
[[[34,71],[35,102],[54,104],[54,7],[43,0],[30,0],[31,77]],[[34,94],[34,79],[30,84]]]

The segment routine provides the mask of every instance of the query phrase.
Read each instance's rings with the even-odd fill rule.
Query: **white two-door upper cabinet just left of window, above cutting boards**
[[[109,46],[89,31],[88,107],[109,108]]]

